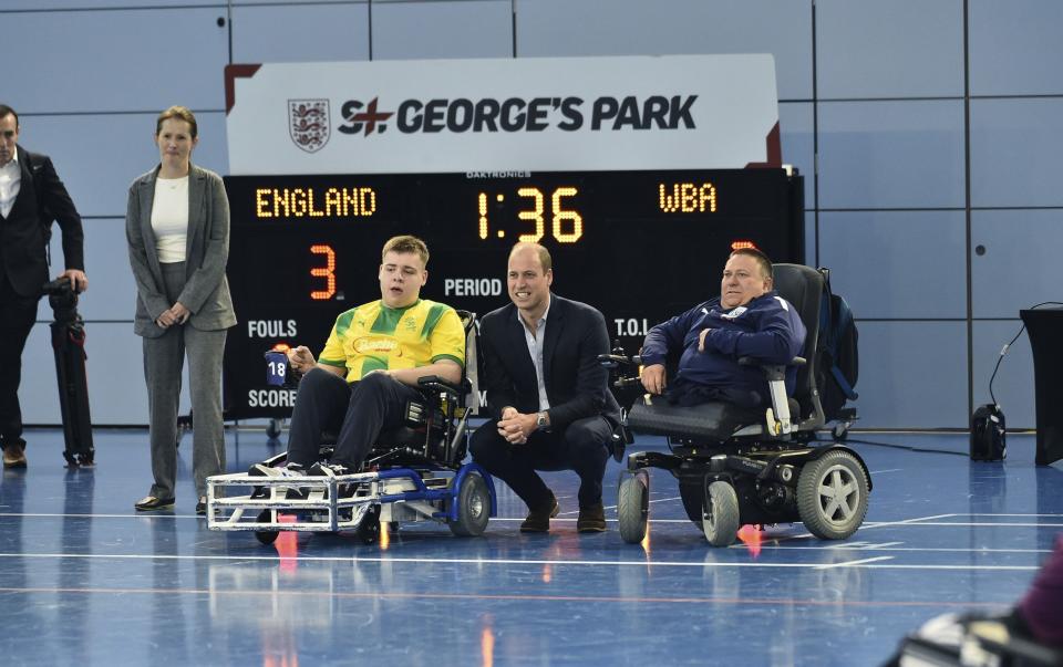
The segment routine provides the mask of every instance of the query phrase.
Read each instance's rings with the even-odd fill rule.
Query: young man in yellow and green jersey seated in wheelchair
[[[402,423],[406,402],[421,397],[419,378],[461,382],[465,330],[454,309],[421,299],[427,263],[421,239],[390,239],[381,252],[380,300],[337,317],[317,359],[302,345],[288,352],[292,371],[305,376],[291,413],[287,470],[259,463],[251,475],[355,472],[380,432]],[[332,458],[319,463],[324,430],[338,437]]]

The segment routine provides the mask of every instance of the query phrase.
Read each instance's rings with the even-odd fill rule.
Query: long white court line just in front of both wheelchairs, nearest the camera
[[[0,559],[86,559],[86,560],[161,560],[161,561],[259,561],[259,562],[313,562],[313,563],[381,563],[381,564],[417,564],[417,565],[574,565],[587,567],[700,567],[702,570],[722,570],[727,567],[761,567],[768,570],[822,570],[824,563],[720,563],[720,562],[681,562],[681,561],[567,561],[543,559],[429,559],[429,557],[383,557],[383,556],[252,556],[252,555],[153,555],[153,554],[102,554],[102,553],[0,553]],[[889,559],[890,556],[884,556]],[[952,571],[992,571],[992,572],[1033,572],[1040,565],[904,565],[899,563],[871,564],[870,561],[880,559],[865,559],[853,561],[853,564],[836,563],[830,565],[842,567],[858,567],[864,570],[952,570]]]

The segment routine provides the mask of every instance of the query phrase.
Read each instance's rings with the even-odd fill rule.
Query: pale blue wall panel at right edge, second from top
[[[972,100],[971,205],[1063,206],[1061,118],[1063,97]]]

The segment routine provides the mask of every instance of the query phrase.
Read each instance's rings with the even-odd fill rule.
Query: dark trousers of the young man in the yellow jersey
[[[309,468],[318,460],[321,432],[337,432],[332,462],[357,469],[380,432],[402,424],[406,403],[421,392],[383,373],[348,384],[313,368],[299,383],[288,427],[288,460]]]

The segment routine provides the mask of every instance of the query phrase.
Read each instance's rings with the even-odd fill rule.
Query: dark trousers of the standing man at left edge
[[[0,271],[0,446],[22,440],[22,350],[37,321],[37,296],[22,296]],[[51,372],[50,368],[40,369]]]

